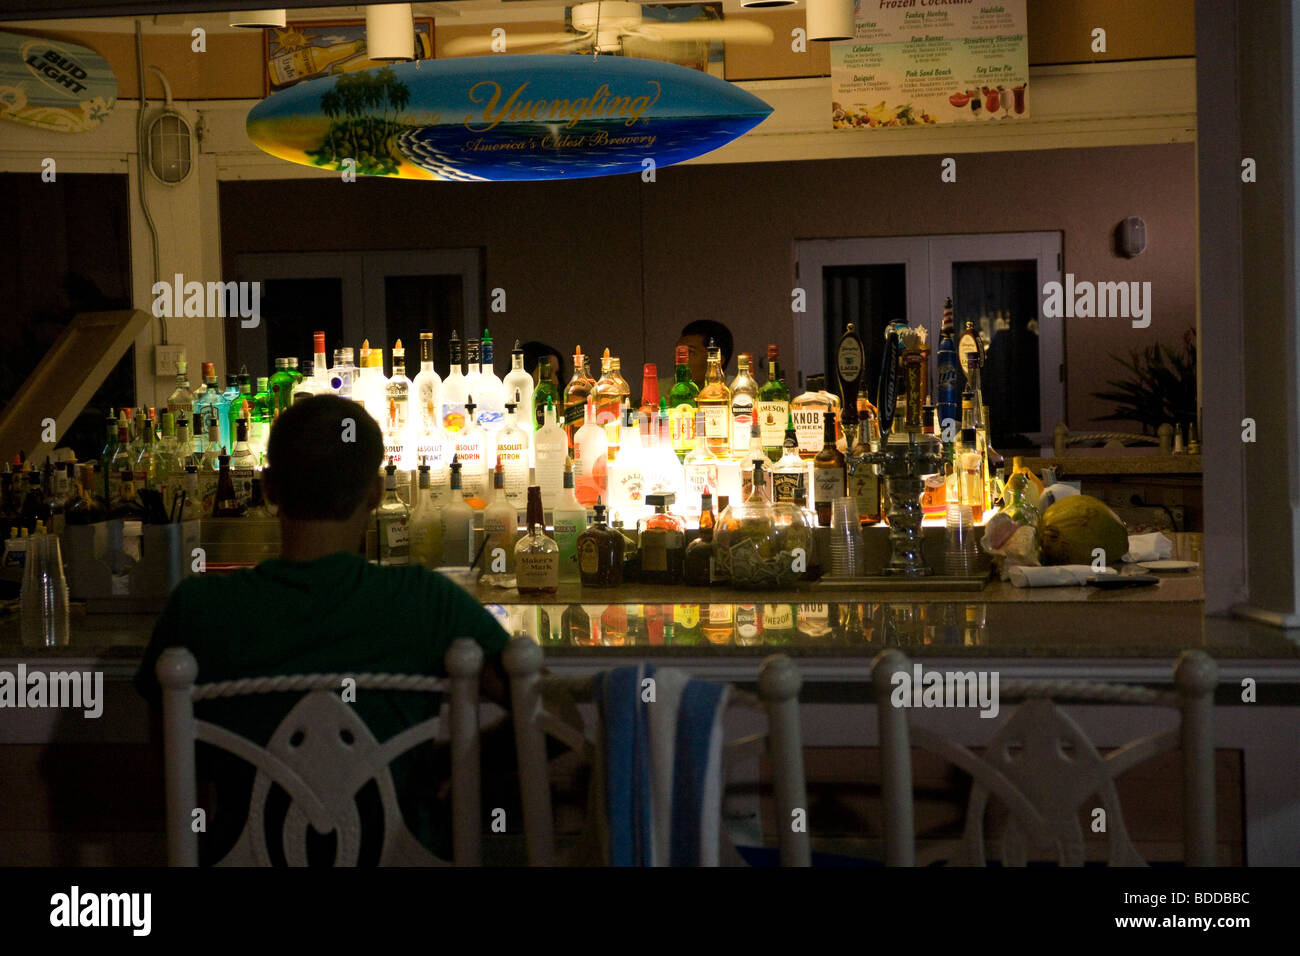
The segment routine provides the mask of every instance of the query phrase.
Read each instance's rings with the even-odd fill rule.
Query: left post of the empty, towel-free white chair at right
[[[907,667],[907,656],[897,648],[881,650],[871,665],[871,683],[876,693],[880,737],[880,796],[884,803],[885,866],[916,865],[907,711],[889,702],[894,689],[893,675],[906,674]]]

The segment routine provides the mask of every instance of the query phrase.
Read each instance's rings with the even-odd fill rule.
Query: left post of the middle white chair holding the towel
[[[530,866],[555,865],[555,822],[551,817],[551,780],[546,761],[542,714],[542,649],[517,636],[506,645],[502,661],[510,674],[510,709],[515,722],[519,790],[524,804],[524,836]]]

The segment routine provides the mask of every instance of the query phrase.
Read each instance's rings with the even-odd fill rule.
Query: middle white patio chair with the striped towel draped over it
[[[502,661],[510,674],[529,865],[554,866],[559,855],[551,812],[551,767],[546,757],[546,736],[568,745],[581,762],[593,762],[595,753],[594,744],[584,732],[551,713],[543,705],[543,697],[554,695],[573,702],[589,702],[593,698],[594,678],[543,676],[542,648],[526,636],[511,640]],[[766,658],[759,669],[758,696],[732,687],[728,700],[729,708],[757,708],[767,713],[768,732],[729,741],[724,748],[723,766],[725,771],[727,766],[751,756],[764,743],[768,744],[783,866],[809,866],[811,861],[798,709],[801,683],[796,663],[784,654],[775,654]],[[798,827],[793,826],[796,810],[802,818],[802,826]],[[588,813],[592,812],[593,808],[588,808]]]

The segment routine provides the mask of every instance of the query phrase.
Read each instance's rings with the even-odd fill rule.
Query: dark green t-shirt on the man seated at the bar
[[[477,641],[485,665],[499,659],[508,640],[482,605],[439,574],[417,566],[378,567],[350,553],[309,562],[274,559],[177,585],[135,680],[140,693],[159,704],[155,667],[170,646],[194,654],[198,683],[280,674],[442,676],[443,656],[458,637]],[[265,745],[300,698],[294,692],[199,701],[195,714]],[[384,743],[434,717],[439,705],[432,695],[359,689],[354,706]],[[198,753],[200,777],[216,786],[217,810],[202,845],[205,861],[214,862],[243,829],[254,773],[224,752],[200,747]],[[407,825],[433,852],[450,858],[445,806],[434,799],[446,766],[432,744],[390,765]],[[373,784],[369,792],[363,788],[358,803],[363,817],[378,818]]]

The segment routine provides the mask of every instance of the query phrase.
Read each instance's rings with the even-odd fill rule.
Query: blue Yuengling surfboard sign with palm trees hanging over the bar
[[[772,112],[699,70],[625,56],[416,60],[299,83],[248,113],[263,151],[404,179],[571,179],[702,156]]]

